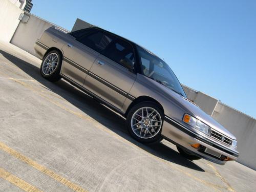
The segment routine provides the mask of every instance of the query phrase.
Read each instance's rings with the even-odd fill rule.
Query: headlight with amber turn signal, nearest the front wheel
[[[206,125],[205,123],[203,123],[202,121],[198,120],[197,118],[195,118],[191,115],[185,114],[183,116],[183,122],[189,124],[195,130],[198,130],[206,135],[210,136],[210,134],[211,134],[211,130],[208,125]]]

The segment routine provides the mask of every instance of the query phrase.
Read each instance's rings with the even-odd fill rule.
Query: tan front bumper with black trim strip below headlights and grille
[[[239,153],[232,148],[215,141],[213,138],[207,138],[193,132],[184,125],[167,116],[164,118],[162,136],[170,142],[184,148],[189,153],[195,154],[196,156],[207,159],[214,163],[225,164],[227,159],[237,160],[239,156]],[[200,147],[194,148],[191,146],[197,143],[200,144]],[[216,157],[205,153],[203,149],[206,147],[209,150],[221,154],[221,157]]]

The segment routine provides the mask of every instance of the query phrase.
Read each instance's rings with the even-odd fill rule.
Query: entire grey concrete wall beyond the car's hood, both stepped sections
[[[238,162],[256,170],[256,119],[225,105],[202,92],[182,85],[187,98],[221,123],[238,140]]]

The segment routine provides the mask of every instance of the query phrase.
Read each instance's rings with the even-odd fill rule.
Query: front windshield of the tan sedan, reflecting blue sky
[[[186,98],[186,94],[174,72],[162,59],[137,46],[142,74]]]

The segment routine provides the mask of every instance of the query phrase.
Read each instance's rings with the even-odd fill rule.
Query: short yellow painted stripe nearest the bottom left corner
[[[22,179],[12,175],[11,173],[7,172],[5,169],[0,168],[0,178],[5,179],[6,181],[12,183],[13,185],[28,191],[28,192],[41,192],[38,188],[34,187],[33,185],[23,181]]]

